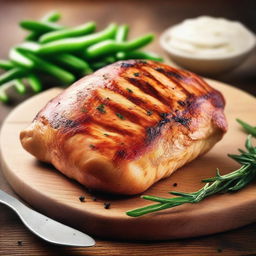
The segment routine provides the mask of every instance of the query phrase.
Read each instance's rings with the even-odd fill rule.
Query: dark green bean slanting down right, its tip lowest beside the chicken
[[[65,84],[70,84],[75,80],[75,76],[70,72],[52,64],[49,61],[41,59],[33,53],[27,52],[26,56],[35,62],[35,69],[48,73]]]

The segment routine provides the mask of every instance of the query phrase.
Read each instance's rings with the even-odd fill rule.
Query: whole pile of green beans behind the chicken
[[[27,85],[39,92],[47,79],[47,84],[51,80],[52,84],[69,85],[117,60],[162,61],[154,53],[139,50],[154,39],[152,34],[127,41],[128,25],[110,24],[95,32],[94,22],[67,28],[56,23],[60,17],[51,12],[40,21],[20,22],[29,34],[10,50],[9,60],[0,60],[0,69],[6,71],[0,75],[0,101],[8,101],[6,91],[11,86],[20,94],[27,91]]]

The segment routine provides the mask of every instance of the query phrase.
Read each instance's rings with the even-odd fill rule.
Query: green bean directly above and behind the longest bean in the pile
[[[44,34],[39,38],[39,42],[48,43],[67,37],[83,36],[92,33],[95,28],[96,24],[94,22],[88,22],[75,28],[67,28]]]

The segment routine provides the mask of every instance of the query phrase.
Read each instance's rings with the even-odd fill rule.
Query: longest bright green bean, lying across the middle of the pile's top
[[[116,33],[117,26],[115,24],[109,25],[105,30],[81,37],[65,38],[42,45],[38,53],[52,54],[59,52],[79,51],[90,45],[98,43],[102,40],[113,38]]]

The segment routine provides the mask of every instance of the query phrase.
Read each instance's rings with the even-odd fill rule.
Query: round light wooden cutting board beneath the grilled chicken
[[[227,157],[244,147],[246,134],[236,123],[240,118],[255,124],[256,100],[243,91],[208,80],[227,102],[229,130],[208,154],[180,168],[171,177],[153,185],[144,194],[171,197],[168,191],[196,191],[204,178],[235,170],[238,164]],[[38,162],[21,147],[20,131],[61,89],[43,92],[19,105],[3,124],[0,147],[4,174],[13,189],[32,207],[63,223],[93,236],[114,239],[162,240],[213,234],[256,221],[255,183],[233,194],[210,197],[198,204],[187,204],[139,218],[125,212],[151,202],[139,195],[120,197],[91,194],[60,174],[51,165]],[[254,141],[255,142],[255,141]],[[173,184],[177,184],[174,186]],[[129,184],[128,184],[129,185]],[[79,200],[85,196],[85,202]],[[95,201],[96,200],[96,201]],[[111,203],[109,209],[104,203]]]

